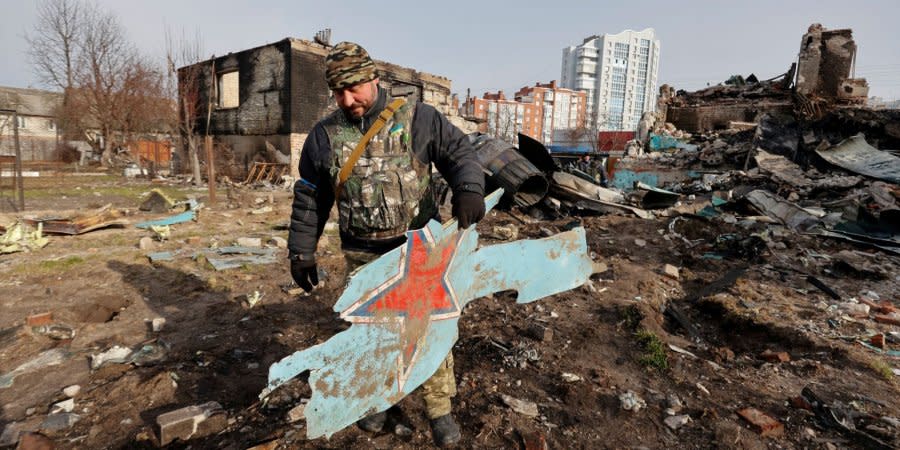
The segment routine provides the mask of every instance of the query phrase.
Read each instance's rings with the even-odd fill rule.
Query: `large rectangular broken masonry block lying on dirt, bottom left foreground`
[[[218,402],[207,402],[160,414],[156,424],[163,446],[176,439],[187,441],[218,433],[228,426],[228,417]]]

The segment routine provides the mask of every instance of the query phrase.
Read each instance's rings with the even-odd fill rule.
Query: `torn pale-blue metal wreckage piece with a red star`
[[[486,199],[487,209],[501,190]],[[437,370],[473,299],[505,290],[529,303],[584,284],[593,272],[584,228],[477,248],[456,221],[408,231],[407,242],[357,270],[334,305],[351,322],[328,341],[269,368],[260,394],[310,371],[307,436],[331,436],[399,402]]]

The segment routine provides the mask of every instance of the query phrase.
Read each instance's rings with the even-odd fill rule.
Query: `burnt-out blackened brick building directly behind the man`
[[[325,83],[327,53],[325,45],[286,38],[178,69],[179,100],[196,104],[195,134],[204,136],[209,120],[217,168],[240,173],[253,161],[290,160],[296,171],[307,133],[336,107]],[[376,64],[393,95],[450,111],[449,79]],[[278,154],[267,154],[267,143]]]

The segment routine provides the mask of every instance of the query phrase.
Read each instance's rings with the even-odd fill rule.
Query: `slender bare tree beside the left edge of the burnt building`
[[[200,137],[197,135],[197,119],[200,114],[200,81],[202,68],[196,64],[201,60],[202,44],[200,34],[193,39],[184,31],[176,38],[172,30],[166,29],[167,93],[177,105],[177,110],[169,118],[172,129],[181,135],[181,160],[190,161],[194,183],[200,184],[200,159],[197,149]],[[182,66],[181,69],[178,69]]]

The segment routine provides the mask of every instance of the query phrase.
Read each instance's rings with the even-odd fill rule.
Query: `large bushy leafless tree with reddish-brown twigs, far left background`
[[[174,104],[163,71],[141,56],[112,13],[79,0],[44,0],[26,36],[41,80],[63,90],[57,117],[87,139],[108,165],[139,133],[165,131]]]

